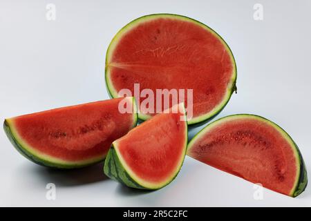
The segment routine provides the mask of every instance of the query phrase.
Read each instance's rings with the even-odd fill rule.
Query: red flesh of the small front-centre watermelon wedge
[[[124,162],[140,179],[164,182],[178,172],[187,145],[187,122],[180,121],[183,115],[156,115],[117,140]]]

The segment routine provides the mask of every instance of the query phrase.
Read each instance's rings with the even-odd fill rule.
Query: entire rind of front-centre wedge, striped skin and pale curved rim
[[[183,106],[183,111],[185,111],[185,106]],[[187,142],[188,142],[188,129],[187,129],[187,120],[186,120],[186,114],[185,114],[185,146],[184,146],[184,153],[182,155],[182,158],[180,159],[180,165],[176,169],[175,173],[173,174],[173,177],[170,177],[166,182],[162,182],[158,185],[150,185],[150,184],[144,184],[143,181],[140,179],[134,177],[133,172],[130,172],[131,169],[127,168],[126,163],[122,163],[120,154],[117,152],[117,144],[113,142],[113,145],[111,146],[109,153],[106,157],[106,160],[104,162],[104,174],[108,177],[110,177],[112,180],[115,180],[117,182],[120,182],[126,186],[129,186],[131,188],[135,189],[144,189],[144,190],[157,190],[161,189],[164,186],[167,186],[170,184],[178,175],[180,169],[182,168],[182,164],[185,160],[185,155],[187,153]]]

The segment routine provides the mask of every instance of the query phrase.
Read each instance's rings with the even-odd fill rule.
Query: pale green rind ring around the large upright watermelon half
[[[218,35],[217,32],[215,32],[212,28],[209,28],[209,26],[205,25],[204,23],[197,21],[195,19],[191,19],[189,17],[183,16],[183,15],[176,15],[176,14],[152,14],[152,15],[144,15],[142,17],[139,17],[138,19],[135,19],[133,21],[131,21],[130,23],[126,24],[126,26],[124,26],[123,28],[121,28],[121,30],[119,30],[117,32],[117,34],[113,37],[113,39],[111,40],[111,43],[109,44],[109,47],[106,51],[106,65],[105,65],[105,79],[106,79],[106,88],[108,90],[109,96],[112,98],[116,98],[118,97],[117,95],[117,91],[115,90],[115,88],[113,88],[113,84],[109,78],[109,70],[108,70],[108,64],[109,64],[109,58],[112,55],[113,50],[115,49],[115,45],[117,44],[117,41],[128,31],[131,30],[131,28],[137,26],[139,23],[144,22],[144,21],[148,21],[149,19],[154,19],[157,17],[170,17],[170,18],[175,18],[175,19],[181,19],[181,20],[185,20],[185,21],[191,21],[194,22],[196,24],[198,24],[199,26],[201,26],[202,28],[205,28],[206,30],[208,30],[209,32],[211,32],[214,36],[216,36],[225,46],[225,48],[227,49],[227,52],[229,52],[229,55],[232,59],[232,64],[234,65],[234,69],[233,69],[233,73],[232,73],[232,78],[230,80],[231,84],[228,84],[228,88],[227,88],[227,94],[225,95],[225,97],[223,98],[223,101],[220,102],[220,104],[218,104],[218,106],[216,106],[212,111],[209,111],[209,113],[206,113],[205,115],[200,115],[198,117],[194,117],[190,120],[188,120],[188,124],[189,125],[194,125],[197,126],[198,124],[202,124],[205,122],[208,122],[209,120],[213,119],[216,115],[218,115],[218,113],[220,113],[223,108],[225,108],[225,106],[227,105],[227,103],[229,102],[229,99],[232,96],[232,93],[234,93],[234,91],[236,91],[236,79],[237,79],[237,68],[236,68],[236,61],[234,59],[234,55],[232,53],[232,50],[229,48],[229,46],[227,45],[227,43],[225,42],[225,40]],[[139,111],[139,110],[138,110]],[[144,115],[142,113],[138,113],[138,118],[145,121],[147,119],[150,119],[151,116],[150,115]]]

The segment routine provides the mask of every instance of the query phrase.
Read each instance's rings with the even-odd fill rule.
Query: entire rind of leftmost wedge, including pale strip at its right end
[[[137,107],[135,104],[135,98],[131,97],[131,102],[133,104],[133,125],[131,128],[134,128],[138,122]],[[65,160],[60,160],[56,157],[51,157],[45,155],[44,153],[39,153],[39,151],[32,150],[32,147],[26,144],[15,131],[14,126],[10,124],[10,119],[5,119],[3,122],[3,129],[10,140],[11,144],[17,149],[21,155],[26,157],[28,160],[39,164],[40,166],[46,166],[49,168],[55,169],[78,169],[85,166],[91,166],[102,162],[106,158],[106,155],[100,157],[93,157],[88,160],[82,160],[78,162],[66,162]]]

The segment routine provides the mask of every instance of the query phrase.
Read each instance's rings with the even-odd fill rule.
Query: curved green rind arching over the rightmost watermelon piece
[[[297,146],[297,144],[294,142],[294,140],[292,140],[292,137],[290,137],[290,135],[283,130],[283,128],[281,128],[281,126],[279,126],[278,124],[270,121],[269,119],[266,119],[265,117],[261,117],[259,115],[252,115],[252,114],[236,114],[236,115],[229,115],[226,117],[222,117],[220,119],[217,119],[214,122],[211,122],[211,124],[208,124],[207,126],[205,126],[204,128],[202,128],[201,131],[199,131],[189,142],[188,146],[187,146],[187,155],[189,155],[189,151],[191,150],[191,147],[193,144],[195,144],[196,140],[200,139],[200,137],[202,137],[208,130],[209,128],[212,128],[213,126],[215,126],[215,124],[220,124],[225,120],[229,120],[229,119],[234,119],[234,118],[238,118],[238,117],[253,117],[255,119],[261,120],[263,122],[266,122],[268,124],[270,124],[271,126],[273,126],[277,131],[279,131],[279,133],[281,133],[281,135],[285,138],[285,140],[288,141],[288,143],[290,144],[290,146],[292,147],[292,151],[294,152],[294,155],[296,157],[297,160],[297,173],[296,173],[296,182],[294,184],[294,186],[292,187],[292,191],[289,194],[292,197],[296,197],[297,195],[301,194],[303,191],[305,191],[305,188],[308,184],[308,175],[307,175],[307,170],[305,167],[305,162],[303,161],[303,157],[301,155],[301,152],[299,150],[299,147]],[[191,157],[191,155],[189,155]]]

